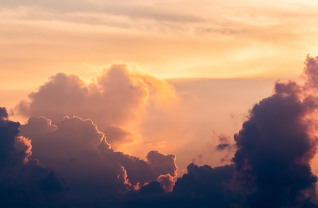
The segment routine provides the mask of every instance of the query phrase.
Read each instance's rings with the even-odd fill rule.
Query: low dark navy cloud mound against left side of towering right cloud
[[[234,165],[211,168],[191,163],[187,174],[177,179],[173,193],[196,201],[197,207],[230,207],[238,202],[229,187],[234,170]]]

